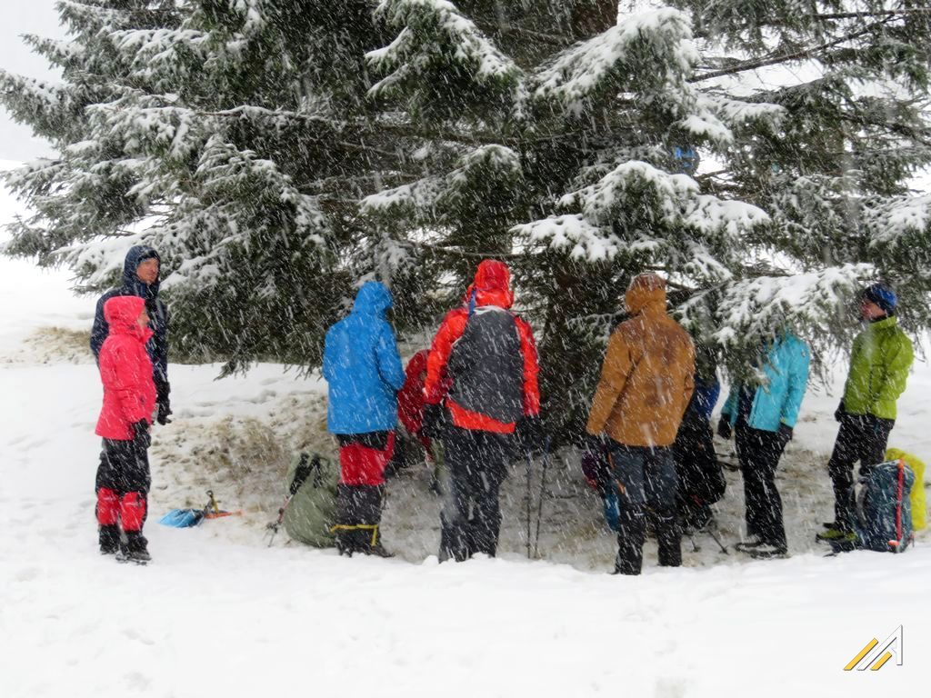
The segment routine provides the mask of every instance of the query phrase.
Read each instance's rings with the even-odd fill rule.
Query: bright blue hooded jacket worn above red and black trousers
[[[359,289],[352,313],[327,332],[323,377],[330,383],[331,434],[368,434],[398,423],[404,368],[385,319],[391,304],[390,291],[369,281]]]

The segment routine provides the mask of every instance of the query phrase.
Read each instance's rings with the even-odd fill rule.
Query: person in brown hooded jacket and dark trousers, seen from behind
[[[625,302],[630,318],[608,341],[587,432],[611,454],[620,509],[614,572],[640,574],[648,512],[659,564],[682,561],[672,444],[694,390],[695,347],[666,312],[660,276],[635,276]]]

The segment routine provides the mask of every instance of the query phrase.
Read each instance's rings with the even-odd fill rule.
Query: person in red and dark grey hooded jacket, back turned
[[[451,479],[440,516],[441,560],[494,556],[501,528],[498,490],[515,431],[538,431],[533,331],[510,312],[514,294],[504,262],[479,264],[464,304],[443,319],[426,359],[422,431],[441,438]]]

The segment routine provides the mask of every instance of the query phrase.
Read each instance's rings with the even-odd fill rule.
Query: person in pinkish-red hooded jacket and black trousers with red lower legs
[[[156,401],[145,345],[152,330],[145,300],[137,296],[111,298],[103,315],[110,331],[99,358],[103,407],[95,430],[103,438],[96,482],[101,553],[144,563],[150,559],[142,523],[151,483],[147,450]]]

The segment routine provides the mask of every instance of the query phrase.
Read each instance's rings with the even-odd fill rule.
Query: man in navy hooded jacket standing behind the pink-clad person
[[[158,298],[159,273],[161,258],[154,248],[137,245],[129,248],[123,262],[123,285],[118,289],[108,290],[97,302],[94,326],[90,330],[90,351],[100,362],[101,347],[110,334],[110,325],[103,313],[103,306],[116,296],[138,296],[145,301],[145,310],[149,315],[149,329],[152,338],[146,343],[146,351],[152,361],[152,378],[155,381],[156,404],[159,424],[169,423],[171,404],[169,396],[169,311],[165,303]]]

